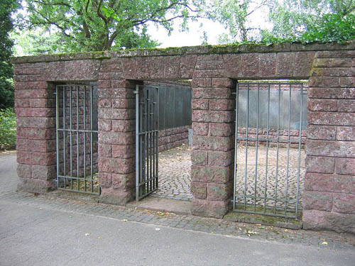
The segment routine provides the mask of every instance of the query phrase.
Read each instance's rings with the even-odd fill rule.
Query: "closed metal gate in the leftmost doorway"
[[[100,194],[96,84],[56,86],[57,185]]]

